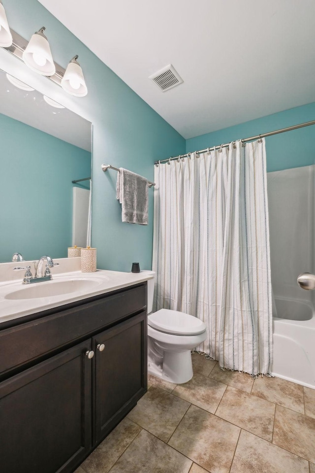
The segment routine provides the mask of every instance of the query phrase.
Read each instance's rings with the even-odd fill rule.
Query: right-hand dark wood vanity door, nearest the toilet
[[[93,347],[94,442],[98,443],[147,390],[147,313],[95,336]]]

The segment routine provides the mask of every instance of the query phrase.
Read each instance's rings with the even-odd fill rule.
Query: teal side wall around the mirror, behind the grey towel
[[[149,190],[149,225],[122,223],[116,200],[117,172],[104,173],[101,165],[127,168],[153,180],[154,161],[183,154],[185,139],[39,2],[4,0],[3,5],[10,27],[24,38],[45,25],[54,60],[64,68],[79,55],[88,95],[69,98],[57,86],[56,93],[49,95],[63,104],[73,104],[69,108],[93,123],[92,244],[97,248],[98,268],[129,271],[131,263],[138,261],[141,268],[150,269],[153,189]],[[25,68],[22,63],[21,67]],[[46,252],[54,257],[48,244]]]

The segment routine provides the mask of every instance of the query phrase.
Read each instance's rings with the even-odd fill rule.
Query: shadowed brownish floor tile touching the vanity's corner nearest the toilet
[[[152,386],[129,412],[128,418],[167,442],[188,408],[188,402]]]

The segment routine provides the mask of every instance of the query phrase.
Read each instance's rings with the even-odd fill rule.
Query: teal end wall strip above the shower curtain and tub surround
[[[309,103],[217,132],[196,136],[186,141],[186,152],[205,149],[236,139],[248,138],[273,130],[315,120],[315,103]],[[309,166],[315,162],[315,126],[266,137],[267,171]]]

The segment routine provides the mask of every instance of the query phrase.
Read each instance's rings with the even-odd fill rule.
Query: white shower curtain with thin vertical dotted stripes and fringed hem
[[[207,326],[197,350],[221,368],[267,374],[272,363],[265,141],[155,167],[155,308]]]

